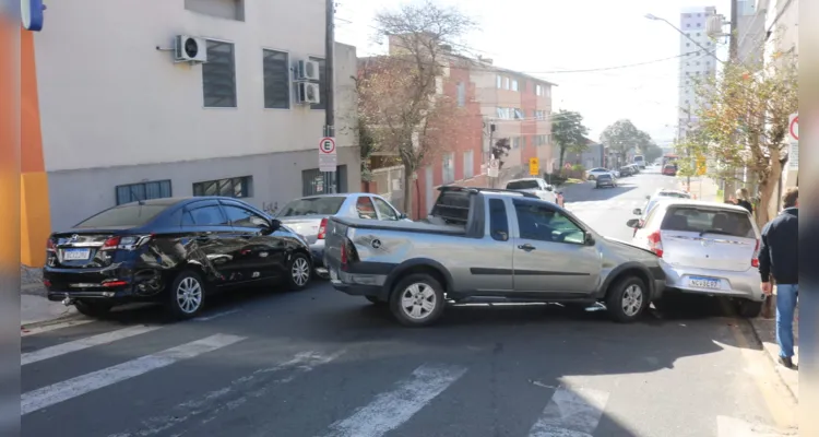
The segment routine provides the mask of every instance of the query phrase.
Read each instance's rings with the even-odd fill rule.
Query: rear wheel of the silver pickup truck
[[[431,303],[431,306],[424,303]],[[406,327],[432,324],[443,314],[444,305],[443,286],[427,273],[415,273],[402,279],[390,294],[390,310]],[[413,314],[415,310],[418,310],[417,315]]]

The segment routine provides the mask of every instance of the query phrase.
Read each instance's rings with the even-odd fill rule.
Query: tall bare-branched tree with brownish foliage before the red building
[[[415,172],[456,138],[448,128],[461,108],[442,93],[454,40],[473,26],[454,8],[430,1],[381,12],[375,21],[390,42],[390,55],[366,59],[359,68],[358,116],[375,146],[394,152],[404,166],[405,213],[412,211]]]

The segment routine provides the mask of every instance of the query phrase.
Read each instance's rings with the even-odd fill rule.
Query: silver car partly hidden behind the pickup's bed
[[[324,236],[331,216],[392,222],[410,220],[384,198],[369,192],[318,194],[292,200],[275,217],[307,239],[320,276],[327,276]]]

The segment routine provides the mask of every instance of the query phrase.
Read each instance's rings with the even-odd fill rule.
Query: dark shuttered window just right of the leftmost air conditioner
[[[230,43],[207,39],[207,62],[202,64],[202,92],[207,108],[236,107],[236,58]]]

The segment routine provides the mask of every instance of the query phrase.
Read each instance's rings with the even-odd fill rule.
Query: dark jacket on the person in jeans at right
[[[759,273],[762,282],[771,275],[778,284],[799,283],[799,209],[788,208],[762,228]]]

